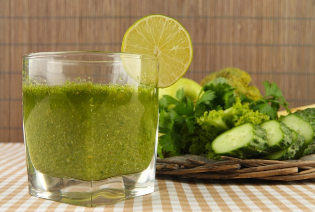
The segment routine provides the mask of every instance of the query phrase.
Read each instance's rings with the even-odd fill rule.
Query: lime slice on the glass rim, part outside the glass
[[[169,87],[183,77],[193,58],[187,30],[177,20],[164,15],[145,16],[130,26],[123,37],[121,51],[156,56],[159,88]]]

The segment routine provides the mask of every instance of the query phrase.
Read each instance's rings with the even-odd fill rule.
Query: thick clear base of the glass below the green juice
[[[28,181],[31,195],[87,207],[110,204],[154,191],[155,170],[150,167],[141,173],[100,181],[80,181],[52,177],[36,169],[30,171]]]

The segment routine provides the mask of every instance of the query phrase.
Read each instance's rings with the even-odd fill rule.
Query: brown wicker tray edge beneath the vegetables
[[[315,178],[315,155],[290,161],[231,157],[216,161],[196,155],[157,158],[156,174],[198,179],[304,180]]]

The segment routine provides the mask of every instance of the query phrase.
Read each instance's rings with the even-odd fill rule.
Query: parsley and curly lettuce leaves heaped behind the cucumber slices
[[[280,106],[287,108],[288,104],[275,83],[263,85],[266,95],[258,100],[237,95],[223,77],[205,83],[195,102],[183,89],[176,98],[164,95],[159,102],[159,156],[206,154],[215,158],[209,147],[221,133],[244,123],[257,125],[277,119]]]

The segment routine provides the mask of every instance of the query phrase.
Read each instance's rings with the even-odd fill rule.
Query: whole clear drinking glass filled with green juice
[[[147,55],[24,55],[29,193],[96,206],[153,192],[157,73],[157,58]]]

